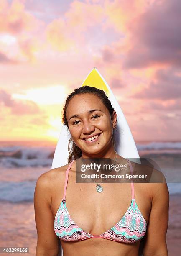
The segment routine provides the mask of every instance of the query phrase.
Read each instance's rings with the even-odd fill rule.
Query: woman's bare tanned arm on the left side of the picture
[[[54,232],[54,217],[51,212],[51,178],[42,174],[37,182],[34,194],[35,222],[37,229],[36,256],[57,256],[58,237]]]

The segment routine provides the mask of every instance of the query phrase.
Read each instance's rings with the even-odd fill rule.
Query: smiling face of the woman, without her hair
[[[67,107],[66,118],[74,143],[85,153],[98,154],[105,148],[113,147],[112,128],[116,123],[116,113],[114,111],[112,121],[99,97],[90,93],[75,95]],[[98,138],[85,140],[97,134]]]

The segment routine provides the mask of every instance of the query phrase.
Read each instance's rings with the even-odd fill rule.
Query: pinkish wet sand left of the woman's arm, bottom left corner
[[[37,233],[33,202],[0,202],[0,209],[0,247],[29,247],[29,254],[23,255],[35,256]]]

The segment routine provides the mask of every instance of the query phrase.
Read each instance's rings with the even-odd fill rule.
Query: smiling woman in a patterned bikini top
[[[100,193],[95,181],[76,183],[76,161],[82,158],[119,159],[130,164],[130,173],[133,165],[136,169],[115,151],[116,116],[103,90],[84,86],[67,97],[63,122],[73,148],[69,164],[42,174],[36,183],[36,256],[57,255],[59,239],[64,256],[137,256],[143,237],[144,256],[168,255],[166,183],[102,182]]]

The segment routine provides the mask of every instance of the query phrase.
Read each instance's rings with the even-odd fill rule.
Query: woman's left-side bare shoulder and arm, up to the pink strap
[[[36,255],[57,255],[58,238],[54,232],[52,202],[58,182],[66,174],[66,165],[51,169],[38,177],[34,193],[35,221],[38,234]],[[55,209],[54,209],[55,211]]]

